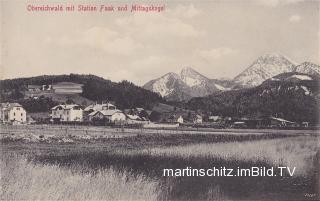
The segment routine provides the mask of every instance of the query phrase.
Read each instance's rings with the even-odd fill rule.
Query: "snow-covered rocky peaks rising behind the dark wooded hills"
[[[143,88],[156,92],[170,101],[187,101],[218,91],[252,88],[281,73],[298,72],[320,75],[320,66],[311,62],[299,65],[281,54],[265,54],[231,80],[210,79],[194,69],[183,68],[180,73],[167,73],[147,82]]]

